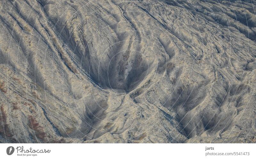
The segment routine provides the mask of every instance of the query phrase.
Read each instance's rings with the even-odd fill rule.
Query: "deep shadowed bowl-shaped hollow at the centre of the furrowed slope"
[[[107,55],[108,56],[108,55]],[[97,79],[99,86],[117,93],[128,93],[150,73],[150,62],[139,51],[121,51],[109,60],[100,60]],[[95,73],[92,73],[95,76]]]

